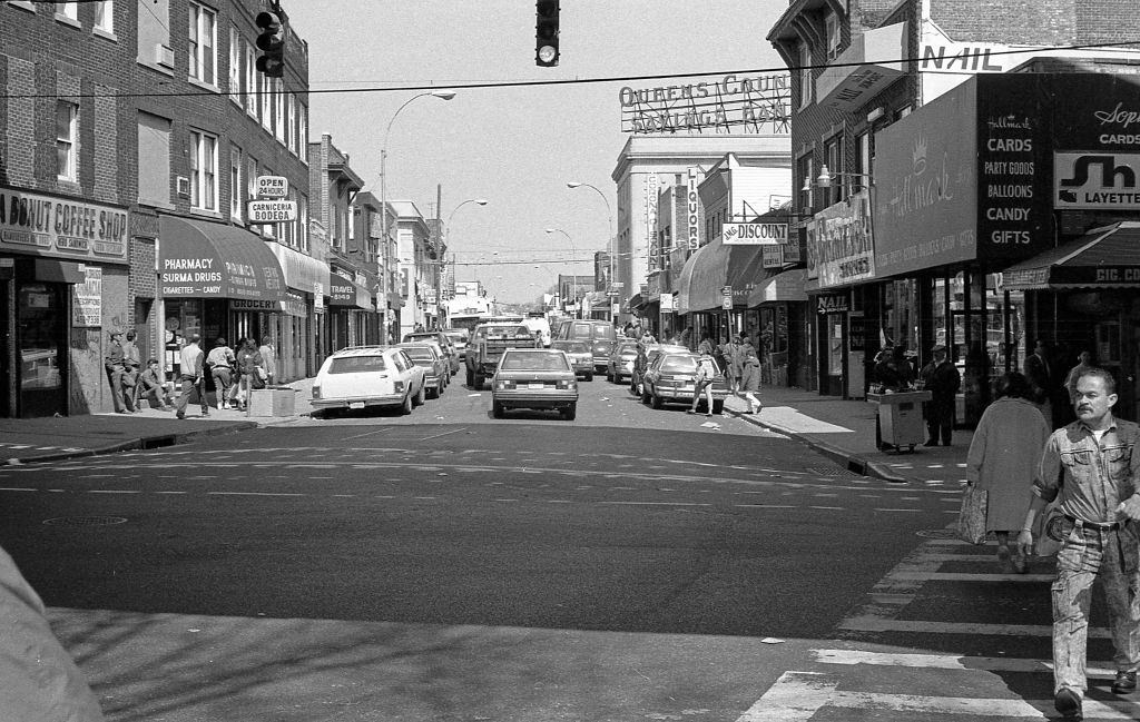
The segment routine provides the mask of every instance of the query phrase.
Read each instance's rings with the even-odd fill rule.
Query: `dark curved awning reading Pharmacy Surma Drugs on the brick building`
[[[158,218],[158,236],[164,297],[285,301],[285,274],[260,236],[172,215]]]

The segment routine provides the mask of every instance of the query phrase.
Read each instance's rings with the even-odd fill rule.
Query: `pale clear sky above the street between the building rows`
[[[456,279],[482,281],[508,303],[534,301],[559,273],[593,273],[593,253],[605,249],[610,232],[606,207],[595,191],[567,182],[596,186],[617,213],[610,175],[627,139],[624,85],[784,69],[765,36],[787,0],[562,0],[554,68],[535,65],[532,0],[282,0],[282,7],[309,44],[309,88],[317,91],[309,97],[310,141],[329,133],[378,198],[391,123],[388,198],[413,200],[434,218],[441,188]],[[620,80],[691,73],[709,77]],[[619,80],[456,88],[595,79]],[[425,92],[412,88],[456,89],[456,96],[416,98],[400,110]],[[475,198],[488,203],[464,203]]]

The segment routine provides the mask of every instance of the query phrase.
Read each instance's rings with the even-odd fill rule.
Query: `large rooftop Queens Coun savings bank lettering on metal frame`
[[[788,73],[636,89],[618,93],[626,133],[791,132],[791,76]]]

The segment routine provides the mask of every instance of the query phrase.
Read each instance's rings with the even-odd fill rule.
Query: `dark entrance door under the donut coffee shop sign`
[[[19,284],[16,344],[19,359],[19,416],[67,415],[67,309],[58,284]]]

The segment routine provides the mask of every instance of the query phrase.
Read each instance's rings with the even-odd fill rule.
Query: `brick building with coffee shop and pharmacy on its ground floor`
[[[0,415],[111,410],[114,329],[168,374],[193,333],[270,336],[279,379],[311,369],[308,49],[290,31],[284,76],[256,72],[267,8],[0,5]],[[268,174],[296,222],[249,223]]]

